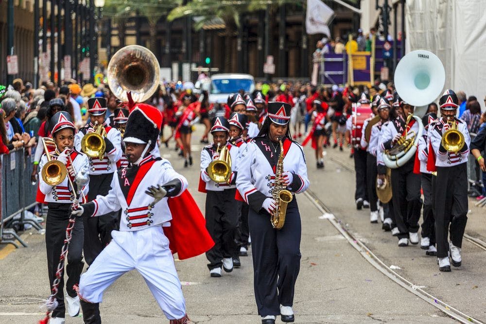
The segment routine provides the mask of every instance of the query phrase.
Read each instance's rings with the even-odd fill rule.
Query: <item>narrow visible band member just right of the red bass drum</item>
[[[368,119],[364,120],[363,123],[363,130],[366,129],[366,126],[368,126],[368,123],[370,122],[371,119],[373,119],[377,114],[377,107],[378,103],[380,102],[380,96],[376,95],[375,98],[373,99],[373,102],[370,104],[371,111],[373,112],[373,116],[371,116]],[[361,132],[361,147],[366,148],[366,189],[368,190],[368,202],[370,206],[370,222],[376,223],[378,222],[378,196],[376,195],[376,184],[375,184],[375,179],[377,176],[376,173],[376,157],[374,157],[370,153],[370,148],[368,146],[368,142],[366,141],[366,138],[364,137],[365,132]]]

